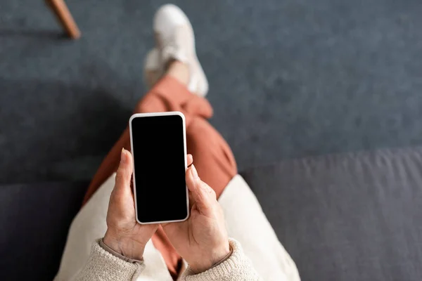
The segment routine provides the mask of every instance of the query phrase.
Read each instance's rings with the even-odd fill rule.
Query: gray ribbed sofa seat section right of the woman
[[[422,280],[422,150],[295,159],[243,173],[302,280]]]

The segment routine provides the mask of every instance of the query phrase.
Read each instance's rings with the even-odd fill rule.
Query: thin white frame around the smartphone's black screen
[[[187,169],[187,159],[186,159],[186,121],[185,121],[185,117],[184,114],[179,112],[179,111],[171,111],[171,112],[152,112],[152,113],[136,113],[134,115],[132,115],[129,119],[129,131],[130,131],[130,146],[132,148],[132,158],[134,159],[134,144],[133,144],[133,138],[132,138],[132,121],[135,118],[142,118],[142,117],[158,117],[158,116],[179,116],[182,119],[182,124],[183,124],[183,146],[184,146],[184,165],[185,165],[185,171]],[[182,218],[180,220],[174,220],[174,221],[151,221],[151,222],[146,222],[143,223],[141,221],[139,221],[138,218],[138,204],[137,204],[137,200],[136,200],[136,179],[135,179],[135,165],[134,165],[134,171],[133,171],[133,181],[134,181],[134,201],[135,201],[135,216],[136,216],[136,221],[138,223],[141,224],[153,224],[153,223],[175,223],[178,221],[186,221],[189,217],[189,195],[188,195],[188,187],[186,186],[186,218]]]

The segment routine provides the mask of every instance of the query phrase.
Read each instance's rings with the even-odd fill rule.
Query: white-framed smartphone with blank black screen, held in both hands
[[[139,113],[129,119],[136,221],[186,221],[186,125],[181,112]]]

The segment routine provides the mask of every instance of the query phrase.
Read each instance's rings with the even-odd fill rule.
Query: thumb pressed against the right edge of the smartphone
[[[186,172],[186,185],[191,192],[191,197],[196,203],[198,211],[203,214],[209,214],[212,211],[216,200],[215,191],[209,185],[200,180],[195,166],[192,166]]]

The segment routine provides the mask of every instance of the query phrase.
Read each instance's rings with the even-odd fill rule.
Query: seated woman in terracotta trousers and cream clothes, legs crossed
[[[184,113],[188,164],[194,162],[186,170],[191,216],[161,226],[136,223],[126,129],[89,185],[56,280],[300,280],[237,174],[229,145],[207,122],[212,107],[191,23],[169,4],[155,14],[153,28],[156,47],[145,69],[151,90],[134,112]]]

